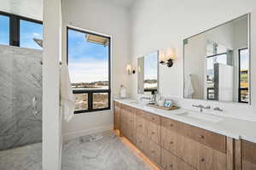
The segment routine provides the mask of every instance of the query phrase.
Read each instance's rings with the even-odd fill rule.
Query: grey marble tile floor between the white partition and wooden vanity
[[[90,142],[91,137],[102,139]],[[72,139],[64,144],[61,170],[152,170],[113,131]]]

